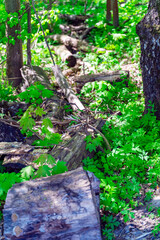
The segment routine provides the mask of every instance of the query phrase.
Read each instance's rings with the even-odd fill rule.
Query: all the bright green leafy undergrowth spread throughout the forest
[[[61,2],[61,4],[59,4]],[[88,26],[95,25],[88,37],[89,44],[109,50],[104,53],[77,53],[84,61],[85,73],[102,72],[106,70],[121,69],[124,61],[139,63],[140,44],[136,35],[136,25],[144,16],[147,10],[147,0],[119,1],[120,27],[114,28],[111,23],[106,23],[106,0],[88,0],[86,8],[82,1],[57,1],[53,3],[51,19],[47,16],[47,5],[44,1],[36,2],[39,11],[44,11],[40,16],[45,33],[48,31],[48,23],[52,24],[53,34],[60,33],[59,13],[82,14],[87,13],[93,17],[87,20]],[[92,6],[92,7],[91,7]],[[91,8],[90,8],[91,7]],[[89,9],[90,8],[90,9]],[[0,19],[2,23],[0,31],[0,58],[5,61],[5,21],[7,15],[4,5],[0,4]],[[24,6],[22,7],[22,10]],[[85,12],[86,9],[89,9]],[[14,18],[14,16],[13,16]],[[21,19],[22,41],[26,50],[27,26],[25,14]],[[43,34],[40,30],[37,19],[32,10],[32,65],[41,65],[48,70],[51,66],[49,53],[44,45]],[[49,40],[49,43],[52,43]],[[26,54],[24,53],[24,63]],[[61,68],[67,68],[59,59],[56,62]],[[0,77],[5,78],[5,67],[0,71]],[[85,97],[89,108],[95,117],[106,119],[103,127],[103,134],[109,141],[112,151],[106,150],[103,139],[97,135],[94,139],[88,137],[87,148],[95,151],[100,145],[103,151],[96,152],[95,157],[84,159],[84,169],[93,172],[101,181],[100,208],[103,215],[103,234],[106,239],[114,239],[114,229],[119,225],[116,218],[118,213],[124,217],[124,221],[133,218],[132,209],[139,206],[141,188],[143,184],[149,184],[155,189],[159,184],[160,175],[160,122],[154,116],[154,106],[148,114],[143,115],[144,97],[142,91],[130,80],[123,77],[123,81],[110,82],[100,81],[86,84],[81,94]],[[15,101],[14,90],[7,84],[0,83],[0,101]],[[40,104],[50,93],[42,86],[32,86],[18,96],[20,100],[29,102],[31,106],[21,115],[20,124],[26,136],[38,134],[39,140],[35,143],[40,147],[53,147],[60,141],[59,135],[49,131],[52,128],[51,122],[45,119],[41,125],[42,131],[36,128],[36,119],[45,116]],[[40,98],[41,96],[41,98]],[[40,102],[39,102],[40,101]],[[40,134],[39,134],[40,133]],[[3,203],[7,191],[16,182],[32,178],[47,176],[66,171],[65,164],[62,165],[50,155],[42,155],[36,162],[39,164],[39,171],[35,172],[32,167],[23,169],[20,173],[0,173],[0,201]],[[52,168],[48,167],[52,165]],[[145,199],[151,198],[149,192]],[[159,213],[160,214],[160,213]],[[153,233],[160,231],[159,224],[155,226]]]

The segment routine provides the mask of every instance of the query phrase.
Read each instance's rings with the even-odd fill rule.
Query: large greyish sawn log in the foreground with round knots
[[[5,240],[101,240],[99,181],[82,168],[15,184],[3,209]]]

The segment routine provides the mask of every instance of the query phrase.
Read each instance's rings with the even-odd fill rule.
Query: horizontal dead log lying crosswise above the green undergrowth
[[[75,89],[77,93],[80,92],[81,88],[88,82],[94,81],[109,81],[109,82],[118,82],[126,79],[129,79],[129,71],[114,71],[109,73],[100,73],[100,74],[86,74],[78,76],[74,79]],[[125,84],[128,85],[128,81],[125,81]]]

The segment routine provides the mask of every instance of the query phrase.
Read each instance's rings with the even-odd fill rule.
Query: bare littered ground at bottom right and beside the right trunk
[[[129,71],[132,81],[138,86],[142,87],[142,76],[139,65],[137,63],[126,63],[121,66],[122,70]],[[149,188],[144,187],[147,192]],[[143,196],[143,194],[142,194]],[[134,218],[127,223],[124,223],[122,216],[117,215],[118,221],[121,223],[114,231],[116,240],[158,240],[160,233],[156,237],[152,230],[154,226],[160,223],[160,217],[156,216],[156,208],[160,207],[160,191],[153,192],[153,199],[145,202],[140,200],[143,205],[132,210]],[[157,231],[158,232],[158,231]],[[106,238],[105,238],[106,239]]]

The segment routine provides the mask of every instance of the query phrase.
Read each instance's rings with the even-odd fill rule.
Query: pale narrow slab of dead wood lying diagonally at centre
[[[61,69],[58,65],[53,66],[53,73],[59,87],[62,89],[65,97],[67,98],[68,102],[71,104],[71,107],[73,108],[73,110],[84,110],[85,108],[83,104],[75,95],[74,91],[72,90],[71,86],[69,85],[66,78],[62,74]]]

